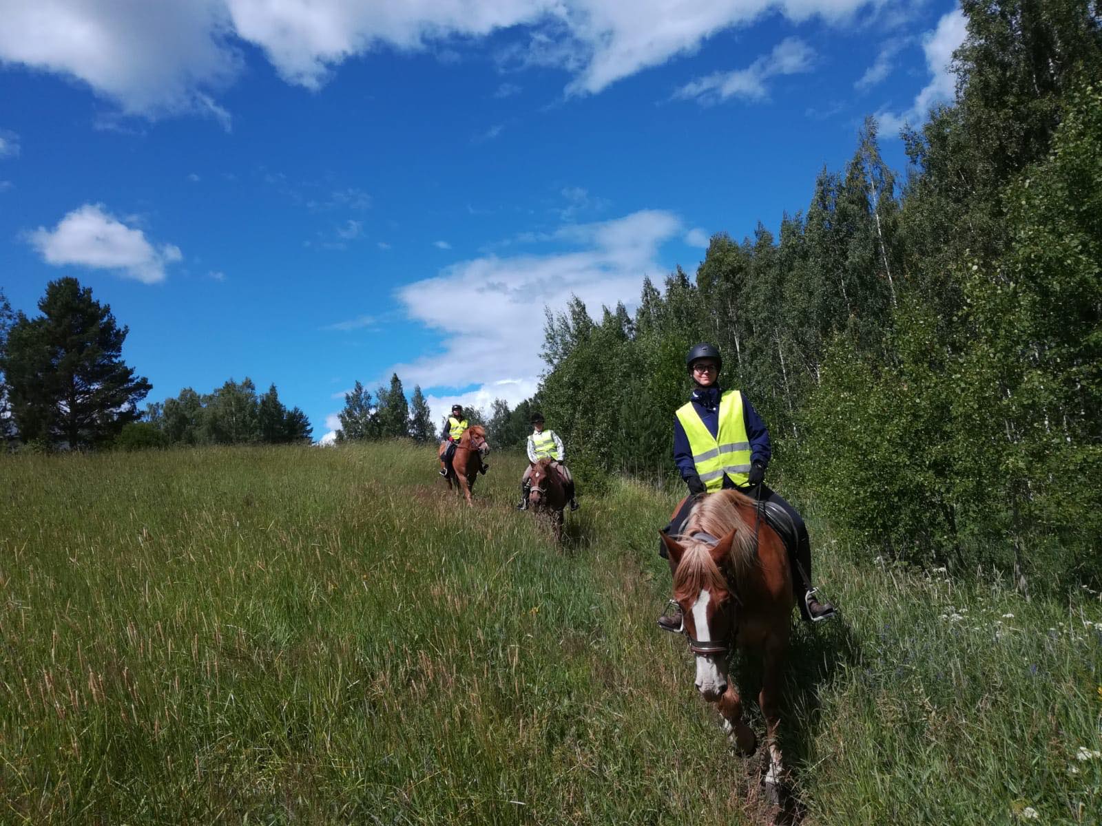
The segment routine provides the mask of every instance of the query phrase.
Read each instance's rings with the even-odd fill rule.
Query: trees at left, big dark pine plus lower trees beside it
[[[129,329],[74,278],[51,281],[40,315],[14,313],[0,291],[0,437],[39,449],[143,448],[309,442],[299,407],[276,385],[257,394],[233,379],[212,393],[185,388],[163,403],[139,403],[152,384],[122,361]]]

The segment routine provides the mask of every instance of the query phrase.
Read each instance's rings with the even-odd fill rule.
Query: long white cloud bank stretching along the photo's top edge
[[[707,37],[768,13],[851,20],[885,0],[0,0],[0,62],[88,84],[128,113],[205,112],[240,72],[237,42],[260,48],[288,81],[321,88],[344,61],[378,48],[441,58],[508,30],[503,65],[554,66],[568,94],[691,54]],[[237,39],[237,40],[235,40]],[[503,84],[498,97],[515,94]]]

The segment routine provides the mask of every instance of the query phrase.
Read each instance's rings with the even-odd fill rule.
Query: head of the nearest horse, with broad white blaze
[[[727,657],[734,645],[736,598],[726,568],[735,534],[719,541],[706,533],[681,542],[666,533],[661,537],[676,566],[673,597],[696,655],[696,688],[715,702],[727,689]]]

